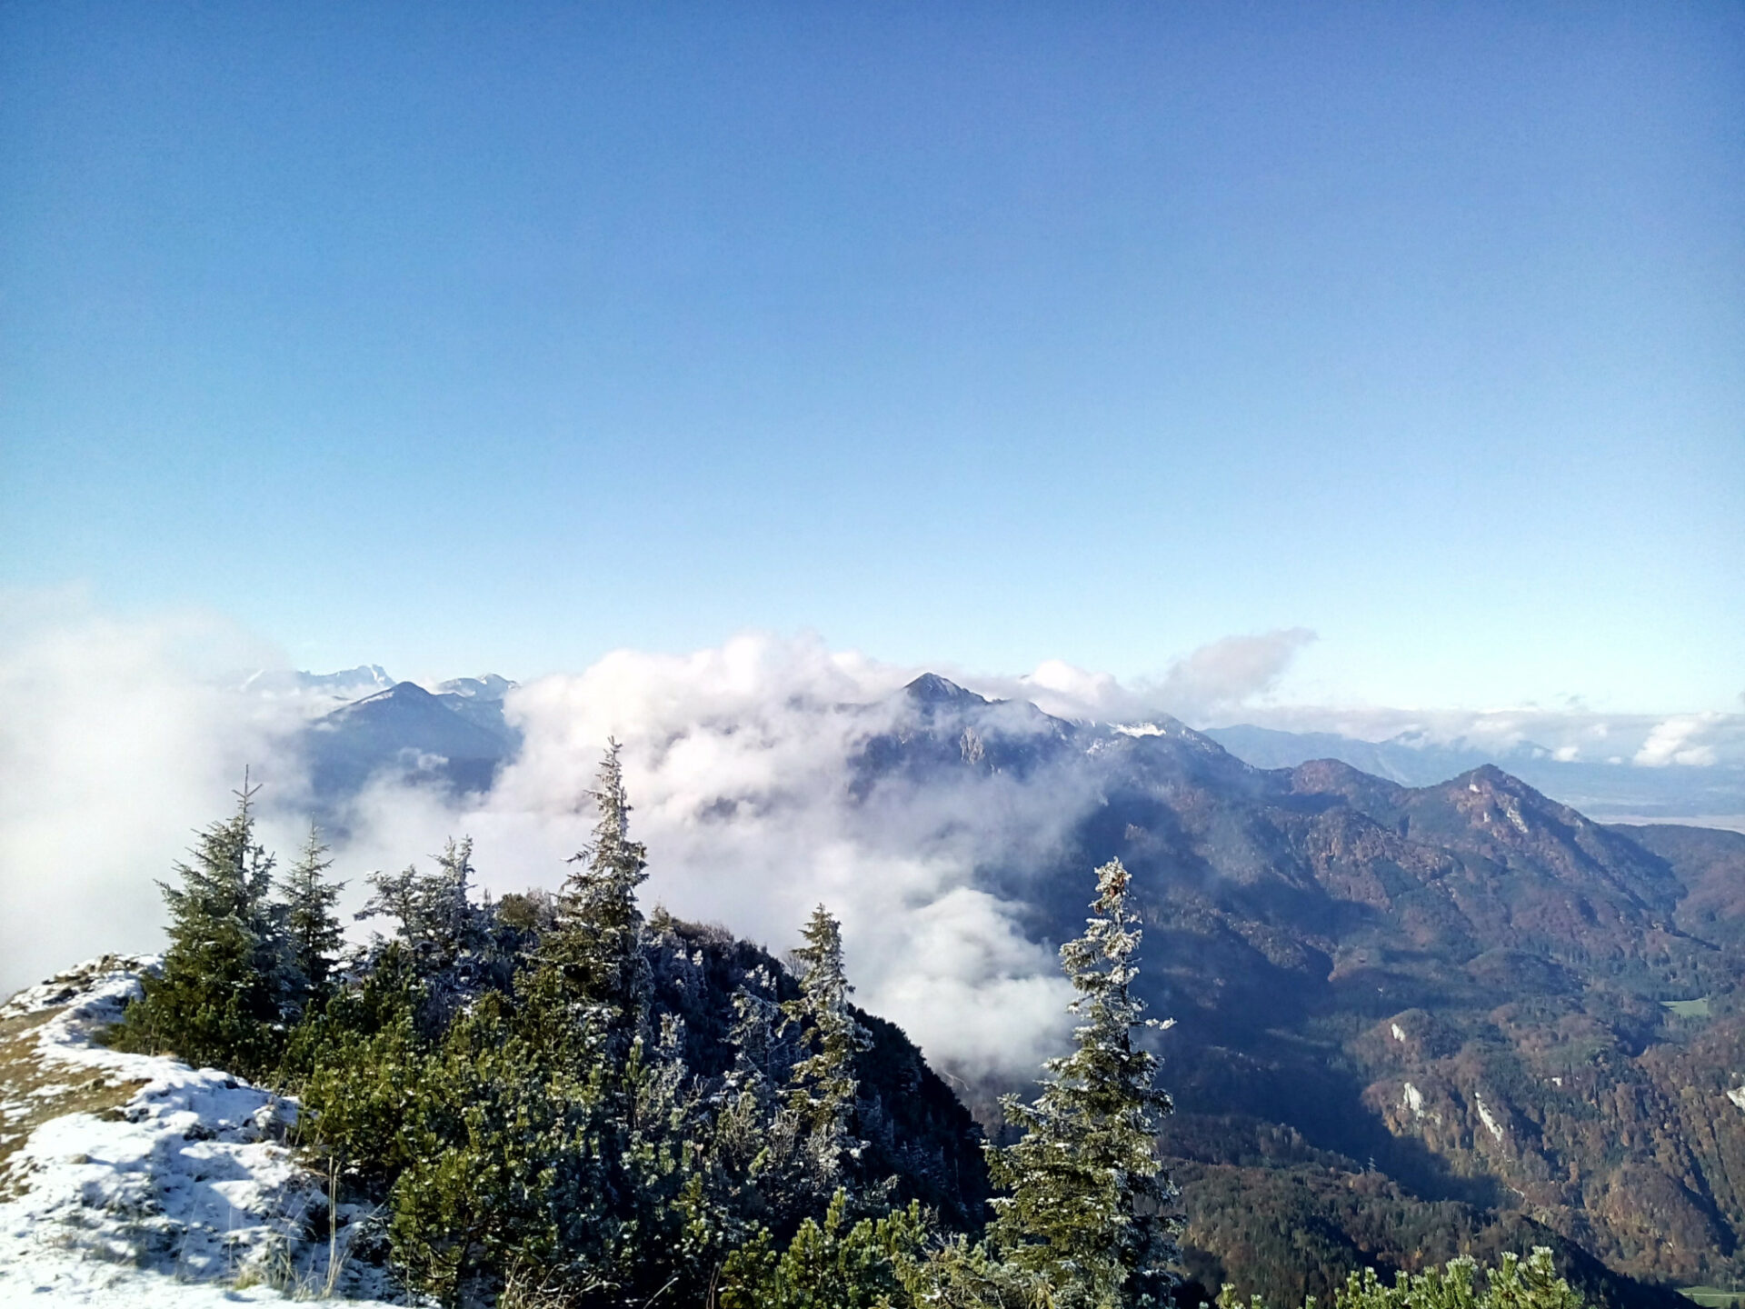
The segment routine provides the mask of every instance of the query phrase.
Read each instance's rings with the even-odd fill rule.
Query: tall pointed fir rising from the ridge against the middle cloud
[[[623,1038],[647,1018],[651,977],[642,955],[637,887],[647,880],[647,852],[630,840],[618,742],[607,742],[595,789],[600,810],[593,840],[569,862],[557,895],[555,922],[539,941],[539,963],[557,974],[571,1005]]]

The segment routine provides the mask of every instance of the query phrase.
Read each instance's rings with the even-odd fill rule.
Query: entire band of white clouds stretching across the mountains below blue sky
[[[77,595],[5,597],[0,637],[0,993],[108,949],[155,949],[155,885],[194,829],[223,817],[244,766],[263,784],[262,831],[290,853],[307,819],[298,730],[335,688],[246,679],[274,667],[246,634],[202,614],[117,618]],[[1436,740],[1534,740],[1623,752],[1640,764],[1745,757],[1745,717],[1602,719],[1511,710],[1410,714],[1277,705],[1272,693],[1312,634],[1230,637],[1152,682],[1044,663],[1028,675],[934,672],[1061,717],[1267,723],[1401,731]],[[363,897],[372,869],[475,840],[490,894],[555,888],[593,824],[588,791],[618,740],[649,846],[647,904],[719,922],[777,951],[815,904],[841,920],[857,998],[902,1025],[948,1070],[1012,1077],[1059,1047],[1068,998],[1054,942],[1030,939],[1023,899],[975,869],[1042,866],[1096,798],[1071,775],[968,791],[850,794],[852,763],[892,726],[895,693],[923,672],[832,651],[815,637],[740,635],[684,656],[616,651],[506,700],[525,745],[485,796],[380,778],[351,801],[335,876]],[[366,688],[365,688],[366,689]],[[339,693],[344,693],[340,688]],[[1047,787],[1045,803],[1028,787]],[[1023,888],[1019,887],[1019,892]],[[358,929],[366,930],[366,929]]]

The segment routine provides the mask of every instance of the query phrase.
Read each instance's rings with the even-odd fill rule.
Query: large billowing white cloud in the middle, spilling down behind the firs
[[[510,695],[525,745],[489,796],[457,806],[386,780],[361,794],[340,873],[403,866],[466,833],[492,894],[555,888],[588,840],[586,792],[616,738],[649,848],[647,904],[782,953],[824,902],[860,1004],[963,1075],[1030,1075],[1064,1040],[1070,990],[1052,946],[1028,941],[975,871],[1057,848],[1091,796],[1047,784],[1038,805],[1040,778],[995,778],[974,803],[951,787],[853,798],[852,759],[892,726],[892,696],[916,672],[811,637],[616,651]]]

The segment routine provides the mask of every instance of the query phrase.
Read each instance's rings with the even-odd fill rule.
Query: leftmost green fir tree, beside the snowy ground
[[[286,988],[281,913],[269,899],[272,855],[255,840],[258,791],[244,773],[236,813],[199,834],[192,862],[176,864],[180,885],[157,883],[169,906],[169,949],[127,1009],[122,1045],[243,1073],[272,1059]]]

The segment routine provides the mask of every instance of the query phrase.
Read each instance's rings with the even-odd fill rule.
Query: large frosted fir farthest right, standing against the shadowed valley
[[[991,1236],[1005,1258],[1052,1286],[1059,1309],[1126,1309],[1169,1302],[1176,1257],[1174,1185],[1157,1157],[1171,1112],[1157,1089],[1157,1056],[1134,1044],[1145,1004],[1133,995],[1138,918],[1127,908],[1127,869],[1096,871],[1092,916],[1061,946],[1078,991],[1073,1052],[1049,1059],[1049,1080],[1030,1105],[1007,1096],[1007,1121],[1024,1136],[989,1148],[995,1185]]]

